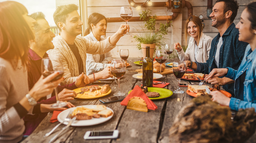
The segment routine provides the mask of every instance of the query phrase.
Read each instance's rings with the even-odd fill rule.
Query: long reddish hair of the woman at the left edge
[[[34,34],[23,18],[28,14],[27,9],[20,3],[5,1],[0,3],[0,57],[11,61],[13,68],[17,66],[18,59],[22,65],[28,64],[28,50]]]

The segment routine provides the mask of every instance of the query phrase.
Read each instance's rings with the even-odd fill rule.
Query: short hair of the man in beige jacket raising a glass
[[[78,10],[78,6],[75,4],[62,5],[56,8],[55,12],[53,13],[53,20],[60,31],[61,29],[58,26],[58,22],[62,22],[66,24],[66,19],[68,14],[75,10]]]

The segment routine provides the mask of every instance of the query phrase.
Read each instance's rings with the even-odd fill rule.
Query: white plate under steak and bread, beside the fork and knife
[[[96,108],[96,105],[82,105],[86,108]],[[72,108],[69,108],[69,109],[66,109],[62,112],[59,113],[57,119],[59,122],[63,123],[64,119],[67,117],[67,115],[69,114],[70,110],[75,110],[75,108],[77,107],[81,107],[81,106],[76,106],[76,107],[72,107]],[[100,124],[100,123],[103,123],[105,121],[108,121],[109,119],[111,119],[113,116],[114,116],[114,111],[107,107],[107,109],[111,110],[112,111],[112,115],[107,117],[107,118],[104,118],[104,117],[100,117],[100,118],[92,118],[92,119],[89,119],[89,120],[75,120],[71,126],[91,126],[91,125],[97,125],[97,124]],[[64,122],[63,124],[67,125],[68,122]]]

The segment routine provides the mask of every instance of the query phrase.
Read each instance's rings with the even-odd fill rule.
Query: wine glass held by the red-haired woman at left
[[[59,72],[59,75],[56,76],[52,81],[56,81],[58,79],[60,79],[63,76],[63,67],[62,64],[60,63],[60,61],[57,61],[58,67],[53,70],[53,64],[52,61],[50,60],[49,57],[43,58],[42,59],[42,63],[41,63],[41,70],[42,70],[42,74],[44,77],[47,77],[48,75],[54,73],[54,72]],[[54,103],[53,105],[51,105],[52,108],[60,108],[60,107],[65,107],[67,105],[67,103],[65,102],[59,102],[58,100],[58,90],[57,87],[54,88],[55,91],[55,96],[56,96],[56,103]]]

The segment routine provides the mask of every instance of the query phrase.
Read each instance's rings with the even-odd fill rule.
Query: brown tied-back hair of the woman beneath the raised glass
[[[105,19],[106,20],[106,24],[108,24],[108,21],[106,19],[106,17],[102,14],[99,14],[99,13],[92,13],[90,16],[89,16],[89,19],[88,19],[88,28],[85,30],[84,32],[84,36],[90,34],[90,30],[92,30],[92,26],[91,24],[94,24],[96,25],[99,21],[101,21],[102,19]],[[105,36],[106,36],[106,31],[105,31]]]

